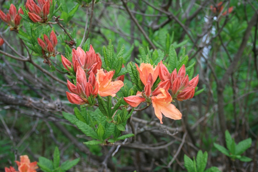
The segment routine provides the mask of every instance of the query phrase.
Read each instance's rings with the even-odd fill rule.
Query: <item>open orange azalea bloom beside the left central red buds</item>
[[[116,96],[116,93],[124,86],[122,81],[112,81],[113,71],[105,73],[103,69],[97,70],[97,83],[99,84],[98,94],[102,97]]]

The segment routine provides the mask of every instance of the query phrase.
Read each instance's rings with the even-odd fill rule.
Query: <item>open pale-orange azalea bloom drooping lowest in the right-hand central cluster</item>
[[[171,104],[172,97],[167,90],[160,88],[159,91],[161,91],[161,94],[152,96],[151,101],[155,115],[160,120],[160,123],[162,124],[162,113],[164,116],[171,119],[181,119],[182,113],[173,104]]]

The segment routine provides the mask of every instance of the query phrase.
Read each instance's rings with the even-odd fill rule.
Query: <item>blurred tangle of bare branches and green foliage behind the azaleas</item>
[[[0,21],[5,42],[0,47],[1,171],[14,166],[21,154],[28,154],[31,161],[40,156],[52,159],[56,146],[61,162],[80,158],[70,171],[189,171],[184,156],[193,159],[199,150],[208,153],[207,168],[258,170],[257,1],[224,0],[221,11],[219,1],[213,0],[56,2],[55,9],[62,5],[55,17],[62,21],[53,17],[52,24],[38,25],[22,19],[18,33]],[[25,5],[21,0],[2,0],[1,10],[7,12],[11,3],[16,8]],[[230,7],[233,11],[223,15]],[[50,66],[43,63],[37,47],[32,51],[32,45],[51,28],[58,44]],[[144,53],[157,52],[167,59],[173,44],[179,58],[186,53],[188,65],[195,64],[188,74],[190,78],[199,74],[198,90],[203,92],[175,103],[183,114],[181,120],[164,118],[161,125],[152,107],[134,112],[136,139],[132,143],[84,145],[90,138],[62,116],[62,112],[73,114],[77,105],[66,98],[67,73],[60,54],[91,44],[103,56],[109,40],[115,51],[125,46],[125,66],[129,61],[139,64]],[[132,87],[128,74],[124,83]],[[251,161],[225,156],[214,147],[214,143],[228,146],[226,130],[236,143],[252,139],[241,154]],[[131,133],[131,127],[126,131]]]

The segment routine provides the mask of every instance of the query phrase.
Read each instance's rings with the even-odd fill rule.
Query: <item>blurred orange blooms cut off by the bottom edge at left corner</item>
[[[30,159],[27,155],[20,156],[20,161],[15,161],[18,166],[18,171],[14,167],[7,168],[5,167],[5,172],[36,172],[37,161],[30,162]]]

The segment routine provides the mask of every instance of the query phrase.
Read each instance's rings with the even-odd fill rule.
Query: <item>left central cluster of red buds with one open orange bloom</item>
[[[114,97],[124,85],[123,81],[112,81],[113,71],[104,72],[102,61],[92,46],[86,52],[81,47],[73,49],[72,62],[62,56],[62,63],[67,71],[73,67],[76,73],[76,86],[67,80],[71,93],[66,92],[66,95],[72,104],[89,104],[89,97],[95,98],[97,94]]]

